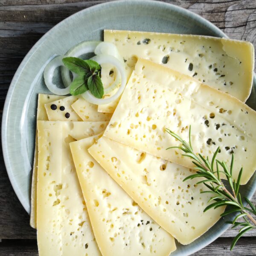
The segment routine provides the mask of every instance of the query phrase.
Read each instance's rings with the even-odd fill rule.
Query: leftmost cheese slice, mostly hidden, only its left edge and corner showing
[[[44,104],[63,99],[64,96],[38,94],[37,120],[48,120]],[[36,228],[36,184],[37,184],[37,167],[38,167],[38,138],[37,130],[35,132],[35,154],[31,183],[31,200],[30,200],[30,226]]]

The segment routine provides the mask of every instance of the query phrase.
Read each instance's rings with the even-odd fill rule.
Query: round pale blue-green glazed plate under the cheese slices
[[[103,29],[140,30],[227,37],[209,21],[185,9],[148,0],[114,1],[82,10],[47,32],[29,51],[15,73],[3,111],[2,146],[6,169],[21,204],[29,212],[30,180],[35,143],[38,93],[49,93],[42,79],[44,64],[54,54],[64,54],[84,40],[102,40]],[[248,104],[256,108],[253,93]],[[250,198],[256,175],[243,187]],[[253,183],[255,183],[253,185]],[[189,255],[214,241],[229,225],[221,219],[192,244],[177,244],[172,255]]]

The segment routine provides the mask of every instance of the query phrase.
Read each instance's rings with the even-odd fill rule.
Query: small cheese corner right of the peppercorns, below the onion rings
[[[112,116],[111,113],[98,112],[97,105],[91,104],[83,98],[79,98],[71,107],[83,121],[109,121]]]

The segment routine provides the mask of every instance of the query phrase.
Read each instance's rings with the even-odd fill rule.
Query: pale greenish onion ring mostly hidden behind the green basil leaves
[[[74,47],[70,48],[65,55],[66,57],[79,57],[83,54],[94,52],[99,43],[99,41],[83,41],[79,44],[76,44]],[[76,74],[72,74],[74,78]],[[72,83],[72,80],[70,78],[70,71],[67,67],[61,67],[61,78],[63,80],[65,87],[68,87]]]

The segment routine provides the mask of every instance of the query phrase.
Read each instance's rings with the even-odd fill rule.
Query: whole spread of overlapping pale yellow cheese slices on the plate
[[[31,226],[41,256],[167,256],[175,239],[189,244],[218,221],[224,207],[204,212],[212,195],[201,193],[201,178],[183,181],[193,164],[166,151],[180,145],[166,128],[189,140],[191,125],[204,157],[219,146],[228,165],[234,154],[241,184],[256,168],[256,113],[241,102],[252,85],[250,43],[111,30],[104,37],[130,77],[121,99],[98,107],[80,96],[38,97]]]

